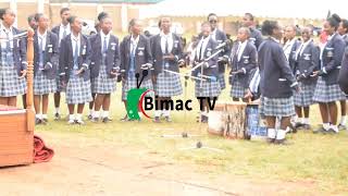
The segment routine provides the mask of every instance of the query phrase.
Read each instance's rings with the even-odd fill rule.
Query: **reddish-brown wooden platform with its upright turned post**
[[[0,106],[0,167],[30,164],[34,156],[35,113],[33,109],[34,30],[27,37],[26,109]]]

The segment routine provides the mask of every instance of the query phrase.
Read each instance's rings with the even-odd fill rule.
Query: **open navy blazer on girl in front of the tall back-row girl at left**
[[[88,38],[80,34],[80,48],[78,56],[78,69],[84,69],[84,72],[80,74],[85,81],[90,79],[90,42]],[[71,35],[67,35],[61,40],[60,52],[59,52],[59,70],[60,75],[63,77],[65,83],[69,82],[70,73],[74,68],[74,57],[73,57],[73,46]]]

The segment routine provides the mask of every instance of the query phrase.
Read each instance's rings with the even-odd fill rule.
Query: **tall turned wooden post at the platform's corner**
[[[35,112],[33,109],[33,81],[34,81],[34,30],[28,29],[28,40],[27,40],[27,53],[26,58],[28,61],[27,65],[27,94],[26,94],[26,113],[27,113],[27,131],[34,132],[35,127]]]

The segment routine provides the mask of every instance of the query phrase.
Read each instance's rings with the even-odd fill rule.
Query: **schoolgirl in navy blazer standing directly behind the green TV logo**
[[[144,76],[140,85],[141,88],[153,89],[151,81],[152,54],[150,40],[141,35],[141,22],[133,19],[129,22],[130,35],[126,36],[121,45],[121,75],[122,75],[122,100],[126,108],[127,93],[129,89],[137,87],[137,79],[135,75],[139,74],[139,81]],[[142,75],[142,70],[148,69],[148,74]],[[121,121],[129,121],[125,115]]]

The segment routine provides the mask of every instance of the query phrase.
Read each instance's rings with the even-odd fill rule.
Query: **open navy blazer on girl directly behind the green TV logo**
[[[141,65],[149,64],[152,65],[152,54],[151,54],[151,46],[150,40],[145,37],[144,35],[139,35],[139,41],[137,45],[137,48],[135,50],[135,73],[140,74],[140,78],[142,77],[142,70]],[[128,71],[130,65],[130,35],[126,36],[121,45],[120,45],[120,51],[121,51],[121,72],[122,77],[127,78],[128,77]],[[150,79],[151,78],[151,70],[148,70],[148,75],[144,77],[144,79]]]

